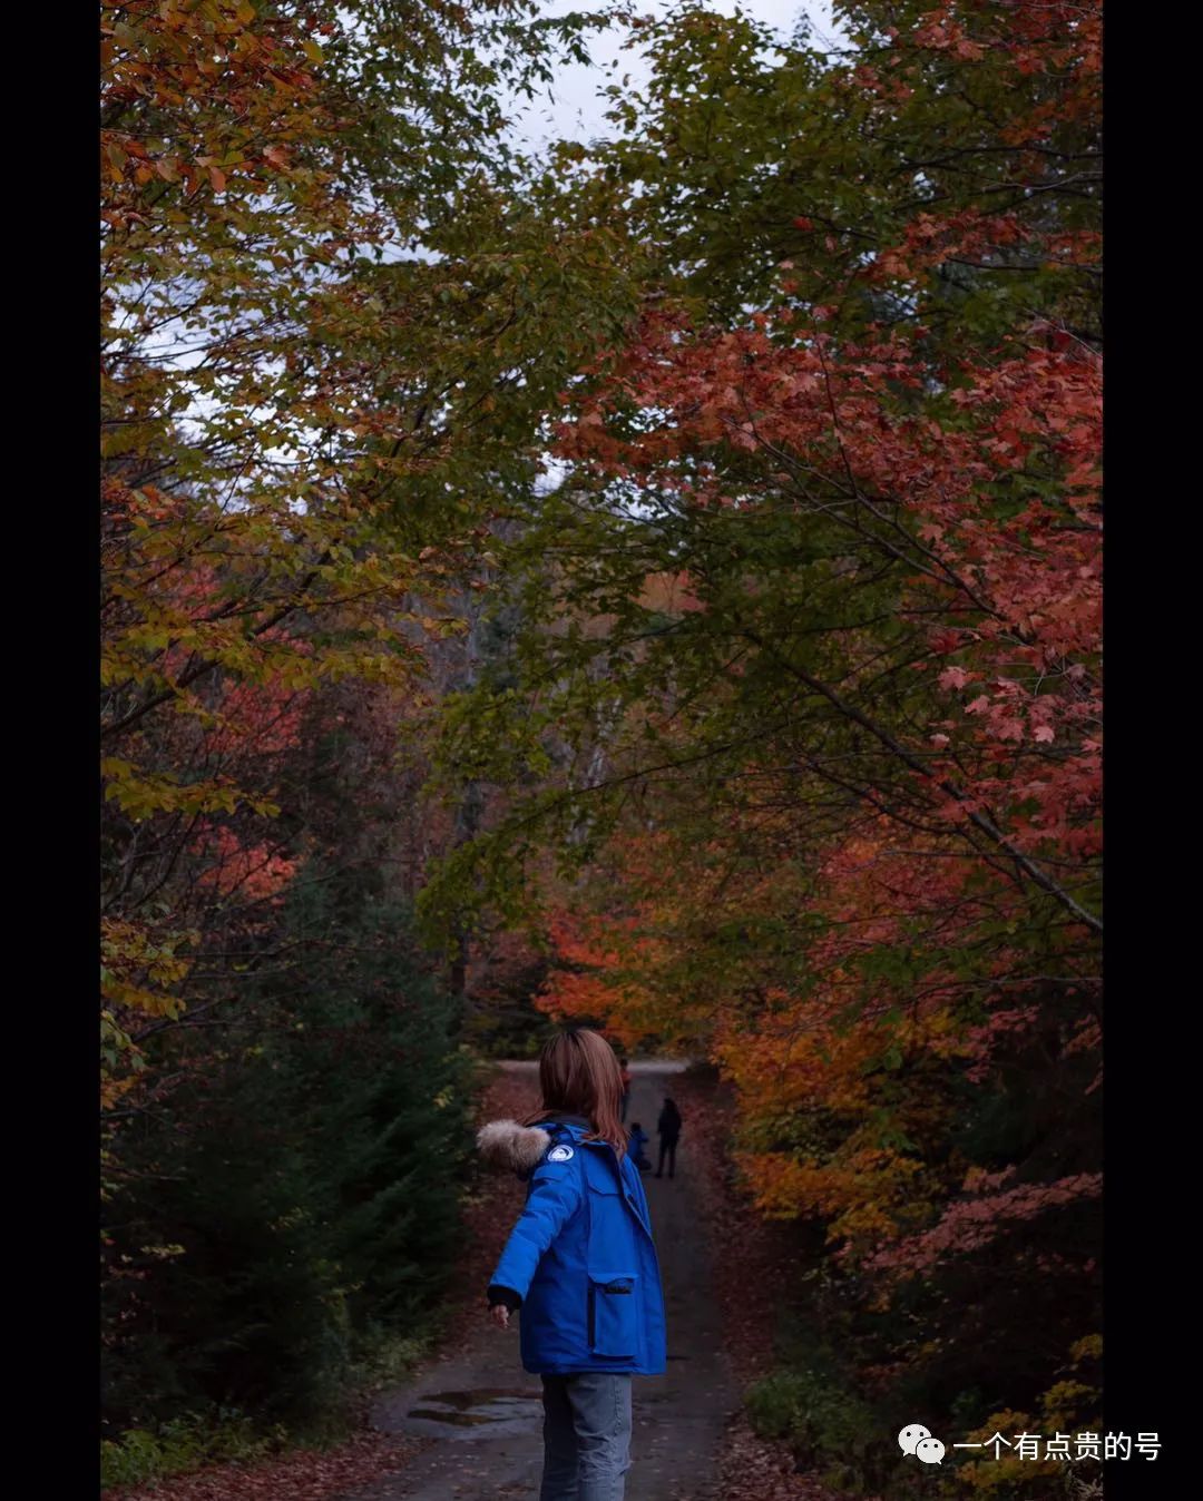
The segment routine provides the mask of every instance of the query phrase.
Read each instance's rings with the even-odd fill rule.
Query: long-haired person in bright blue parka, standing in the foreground
[[[622,1078],[599,1033],[572,1028],[539,1057],[542,1109],[494,1121],[481,1150],[527,1181],[488,1288],[523,1366],[544,1384],[539,1501],[622,1501],[631,1376],[664,1370],[664,1297],[643,1180],[626,1153]]]

